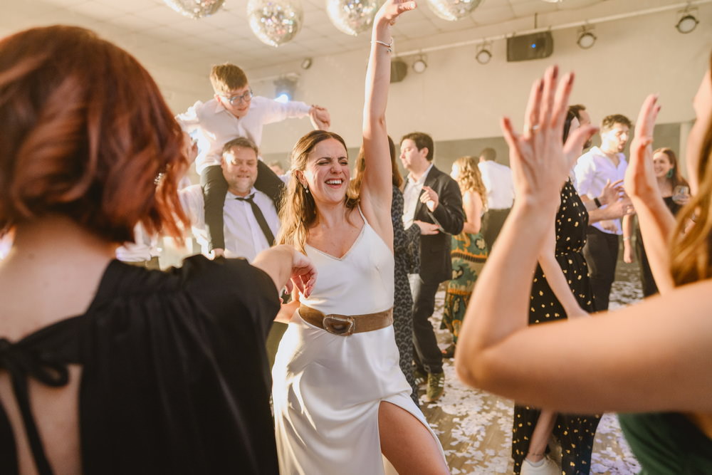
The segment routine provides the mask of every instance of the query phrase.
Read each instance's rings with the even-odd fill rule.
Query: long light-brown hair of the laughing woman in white
[[[304,245],[307,241],[309,229],[316,220],[316,203],[314,197],[308,192],[306,187],[299,182],[296,172],[303,172],[307,165],[309,154],[319,142],[328,139],[335,139],[341,142],[346,150],[346,142],[340,135],[325,130],[312,130],[307,135],[301,137],[292,149],[289,182],[287,190],[282,197],[282,205],[279,212],[281,227],[277,236],[277,244],[290,244],[304,252]],[[358,195],[347,188],[345,205],[347,209],[353,209],[358,204]]]

